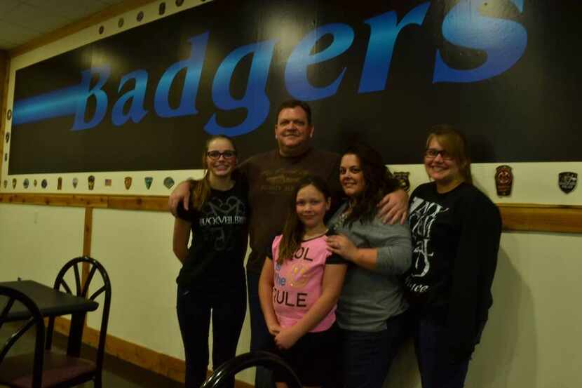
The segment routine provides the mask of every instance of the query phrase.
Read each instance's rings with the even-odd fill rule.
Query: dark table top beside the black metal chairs
[[[19,290],[21,293],[30,297],[36,303],[36,306],[39,307],[43,316],[92,312],[99,307],[99,304],[93,300],[63,293],[32,280],[3,281],[0,282],[0,286]],[[0,310],[6,306],[7,301],[8,297],[4,295],[0,296]],[[6,321],[20,321],[27,319],[29,316],[28,309],[20,302],[16,302],[6,317]]]

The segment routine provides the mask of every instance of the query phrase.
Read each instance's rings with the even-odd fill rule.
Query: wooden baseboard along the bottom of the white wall
[[[69,319],[62,317],[57,317],[57,319],[55,319],[55,331],[57,331],[57,333],[68,335],[69,326]],[[86,326],[83,330],[83,343],[96,348],[98,341],[99,330]],[[147,347],[142,347],[141,345],[134,344],[109,334],[105,340],[105,352],[111,356],[117,357],[118,359],[139,366],[140,368],[151,370],[154,373],[158,373],[159,375],[166,376],[178,382],[184,382],[186,366],[183,360],[147,349]],[[208,375],[210,375],[210,373],[211,372],[208,371]],[[253,387],[254,386],[248,384],[248,382],[240,380],[236,380],[235,382],[235,388]]]

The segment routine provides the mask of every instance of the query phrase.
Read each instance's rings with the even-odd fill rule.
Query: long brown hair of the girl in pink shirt
[[[290,197],[289,208],[287,208],[288,213],[285,226],[283,227],[283,238],[279,244],[278,264],[283,264],[283,260],[293,257],[293,254],[301,245],[303,235],[305,234],[305,226],[299,221],[299,217],[297,217],[295,202],[297,201],[297,193],[299,193],[299,190],[310,185],[315,187],[323,195],[325,201],[330,199],[330,189],[327,188],[327,184],[322,178],[306,175],[297,182]]]

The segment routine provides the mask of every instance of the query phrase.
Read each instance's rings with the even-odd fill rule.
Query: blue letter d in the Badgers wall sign
[[[208,32],[188,39],[190,43],[190,56],[185,60],[180,60],[168,67],[161,76],[154,96],[154,109],[158,116],[175,117],[186,116],[187,114],[197,114],[196,95],[198,94],[198,83],[202,72],[202,64],[206,54],[206,44],[208,44]],[[168,96],[172,83],[181,70],[186,69],[186,79],[182,88],[182,98],[180,107],[172,109]]]

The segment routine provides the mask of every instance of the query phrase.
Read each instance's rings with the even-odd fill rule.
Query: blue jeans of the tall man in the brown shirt
[[[259,300],[260,274],[247,272],[248,307],[250,312],[250,350],[269,351],[275,347],[273,336],[266,328],[266,322]],[[255,373],[255,388],[273,388],[273,373],[270,369],[257,366]]]

